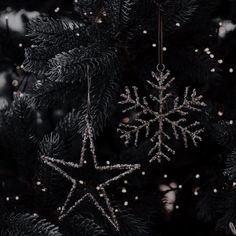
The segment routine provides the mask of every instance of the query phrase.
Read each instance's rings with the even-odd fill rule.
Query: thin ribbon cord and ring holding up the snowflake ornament
[[[158,20],[158,26],[157,26],[157,33],[158,33],[158,64],[157,64],[157,70],[158,71],[164,71],[165,65],[163,64],[163,19],[161,15],[161,5],[156,1],[157,5],[157,20]]]

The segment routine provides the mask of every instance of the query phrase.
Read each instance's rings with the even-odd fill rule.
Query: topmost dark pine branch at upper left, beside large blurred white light
[[[91,42],[90,30],[90,27],[68,19],[39,17],[30,21],[27,36],[33,45],[25,50],[24,70],[45,74],[49,69],[49,59]]]

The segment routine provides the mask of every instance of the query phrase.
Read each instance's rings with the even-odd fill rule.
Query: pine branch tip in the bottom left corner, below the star
[[[58,227],[29,213],[3,214],[0,234],[1,236],[62,236]]]

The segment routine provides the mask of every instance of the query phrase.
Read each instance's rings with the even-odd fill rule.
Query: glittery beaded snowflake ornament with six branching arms
[[[163,158],[170,160],[169,154],[175,154],[175,150],[170,147],[168,140],[173,136],[175,139],[182,138],[185,148],[188,147],[188,139],[192,140],[197,146],[197,142],[201,141],[200,134],[204,131],[200,128],[200,122],[195,121],[189,123],[187,117],[190,111],[201,112],[201,108],[206,104],[202,101],[202,96],[198,96],[196,90],[192,92],[189,88],[185,88],[184,97],[181,100],[176,97],[171,107],[166,106],[166,102],[173,94],[170,91],[171,84],[175,78],[170,78],[170,72],[159,71],[152,72],[153,81],[147,83],[157,91],[157,95],[150,94],[149,98],[140,98],[138,88],[133,86],[132,90],[128,87],[125,94],[121,94],[122,101],[119,104],[128,106],[123,110],[126,112],[136,112],[134,121],[120,123],[118,132],[120,137],[125,140],[128,145],[134,137],[134,145],[138,145],[140,133],[145,131],[145,137],[150,138],[153,147],[149,151],[151,157],[150,162],[157,160],[160,162]],[[157,109],[152,109],[150,104],[156,104]],[[150,133],[151,126],[158,127],[153,134]],[[166,127],[170,127],[172,135],[167,134]]]

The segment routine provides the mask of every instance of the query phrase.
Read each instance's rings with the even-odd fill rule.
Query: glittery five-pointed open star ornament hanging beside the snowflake
[[[89,180],[89,185],[86,184],[86,181],[80,179],[73,178],[66,171],[62,169],[62,167],[70,167],[74,169],[78,169],[79,171],[83,171],[85,167],[84,158],[85,152],[87,150],[87,144],[89,146],[90,152],[92,154],[93,161],[93,169],[98,176],[106,177],[106,180],[98,183],[99,180],[92,179]],[[106,165],[99,166],[97,163],[97,157],[95,154],[95,145],[93,141],[93,131],[90,125],[88,116],[86,118],[86,128],[83,133],[83,141],[80,155],[80,163],[66,162],[59,159],[54,159],[51,157],[42,156],[42,161],[50,166],[52,169],[57,171],[62,177],[66,178],[72,183],[72,187],[66,197],[66,200],[63,206],[60,208],[59,212],[59,220],[62,220],[66,217],[70,212],[72,212],[81,202],[84,200],[90,200],[91,203],[102,213],[102,215],[114,226],[114,228],[118,231],[119,224],[116,219],[116,215],[114,213],[114,209],[110,204],[110,200],[106,194],[105,187],[109,186],[112,182],[117,181],[124,176],[127,176],[134,172],[135,170],[140,168],[140,165],[129,165],[129,164],[116,164],[116,165]],[[106,173],[105,173],[106,172]],[[119,173],[117,173],[119,172]],[[107,177],[108,173],[110,176]],[[106,175],[105,175],[106,174]],[[91,186],[91,182],[96,182],[96,186]],[[72,198],[76,198],[76,201],[72,201]],[[126,205],[126,204],[125,204]]]

